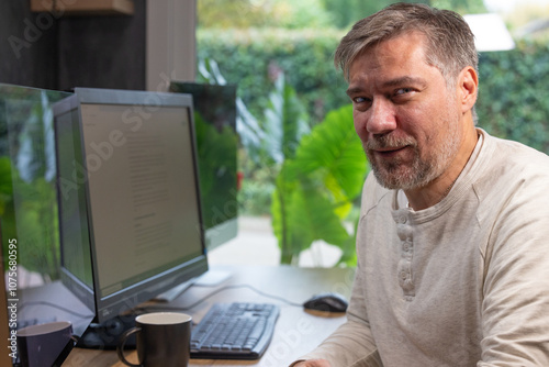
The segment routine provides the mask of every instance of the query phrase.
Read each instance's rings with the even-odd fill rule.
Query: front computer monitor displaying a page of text
[[[127,310],[208,270],[192,97],[77,88],[54,121],[61,279],[122,331]],[[101,332],[81,344],[113,346]]]

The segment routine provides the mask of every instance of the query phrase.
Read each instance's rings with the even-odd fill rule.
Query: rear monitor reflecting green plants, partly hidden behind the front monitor
[[[194,124],[206,248],[238,233],[236,86],[171,81],[170,91],[194,100]]]

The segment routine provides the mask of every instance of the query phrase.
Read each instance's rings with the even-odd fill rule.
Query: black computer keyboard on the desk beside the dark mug
[[[258,359],[267,349],[279,308],[270,303],[215,303],[192,330],[191,358]]]

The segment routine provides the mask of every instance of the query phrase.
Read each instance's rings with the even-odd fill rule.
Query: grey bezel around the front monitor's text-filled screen
[[[198,170],[198,156],[195,146],[195,135],[194,135],[194,121],[193,121],[193,104],[192,96],[189,94],[176,94],[169,92],[150,92],[150,91],[131,91],[131,90],[114,90],[114,89],[98,89],[98,88],[76,88],[75,93],[54,105],[54,120],[57,115],[64,113],[71,113],[75,109],[78,111],[78,129],[80,136],[80,148],[82,154],[81,164],[86,168],[86,147],[83,144],[83,133],[81,129],[82,115],[81,115],[81,104],[119,104],[119,105],[139,105],[139,107],[150,107],[152,109],[161,107],[182,107],[186,109],[189,119],[189,130],[191,134],[191,149],[192,149],[192,167],[194,185],[197,189],[197,208],[199,211],[199,221],[202,219],[201,205],[200,205],[200,185],[199,185],[199,170]],[[56,138],[56,153],[57,153],[57,133]],[[58,159],[58,157],[57,157]],[[56,175],[59,175],[57,169]],[[59,176],[56,177],[59,181]],[[57,194],[59,194],[59,185],[57,185]],[[124,312],[131,311],[133,308],[137,307],[147,300],[150,300],[163,293],[164,291],[171,289],[182,282],[189,281],[203,273],[208,271],[208,257],[206,257],[206,246],[205,236],[202,229],[202,223],[197,227],[200,232],[201,241],[201,254],[194,258],[180,264],[173,268],[158,274],[155,277],[142,280],[131,287],[126,287],[120,291],[101,297],[101,291],[99,288],[99,275],[98,275],[98,259],[94,249],[94,238],[93,238],[93,219],[90,211],[90,192],[88,181],[85,184],[85,197],[86,197],[86,215],[88,224],[88,234],[90,240],[90,257],[91,257],[91,271],[92,271],[92,283],[93,289],[90,289],[86,283],[80,281],[75,277],[61,263],[61,280],[66,286],[82,300],[88,307],[92,307],[92,311],[96,313],[96,322],[102,323],[112,318],[119,316]],[[59,207],[59,231],[61,230],[61,207]],[[60,235],[60,241],[63,241],[63,235]],[[61,244],[63,251],[63,244]],[[63,258],[63,255],[61,255]]]

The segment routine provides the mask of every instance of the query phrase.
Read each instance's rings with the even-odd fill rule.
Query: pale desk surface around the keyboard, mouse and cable
[[[215,288],[192,287],[169,307],[184,307],[194,303],[217,288],[246,285],[262,292],[282,297],[295,303],[302,303],[314,293],[336,291],[350,296],[354,269],[348,268],[296,268],[290,266],[276,267],[220,267],[229,270],[229,279]],[[213,360],[191,359],[189,366],[285,366],[300,355],[311,351],[328,336],[346,319],[341,314],[315,315],[303,308],[288,305],[276,299],[258,294],[246,287],[231,288],[209,298],[194,309],[184,311],[200,322],[204,313],[214,302],[248,301],[272,302],[280,305],[281,312],[277,322],[273,338],[261,359],[258,360]],[[136,353],[128,352],[130,360],[136,360]],[[92,351],[75,348],[63,365],[80,366],[125,366],[119,362],[114,351]]]

